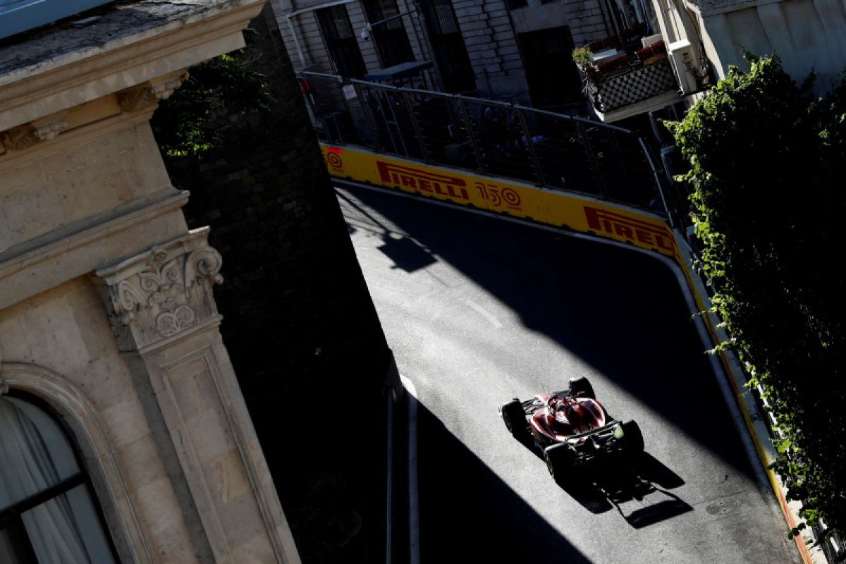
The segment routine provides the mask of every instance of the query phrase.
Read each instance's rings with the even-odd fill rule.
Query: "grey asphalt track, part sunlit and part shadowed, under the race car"
[[[419,398],[421,562],[799,562],[661,262],[366,189],[338,201]],[[561,487],[497,407],[578,376],[645,453]]]

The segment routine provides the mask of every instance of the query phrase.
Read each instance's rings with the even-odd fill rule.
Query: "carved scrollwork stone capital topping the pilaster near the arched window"
[[[146,348],[217,316],[221,256],[208,227],[96,271],[121,351]]]

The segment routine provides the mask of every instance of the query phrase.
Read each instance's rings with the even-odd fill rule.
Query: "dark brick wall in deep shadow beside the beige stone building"
[[[332,560],[339,551],[364,561],[382,542],[382,476],[373,468],[384,467],[382,384],[393,360],[267,17],[266,7],[252,23],[262,40],[250,48],[271,80],[274,112],[222,120],[222,145],[201,161],[168,159],[168,171],[191,192],[190,227],[211,225],[223,257],[215,292],[223,339],[301,556]],[[348,438],[360,438],[335,446],[329,415],[344,413],[354,414]],[[343,463],[316,470],[318,453]],[[350,533],[358,517],[365,533],[343,548],[332,539],[343,530],[322,529],[340,519]]]

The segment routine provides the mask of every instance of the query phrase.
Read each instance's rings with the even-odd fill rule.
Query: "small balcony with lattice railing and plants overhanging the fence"
[[[636,41],[636,42],[634,42]],[[683,94],[660,36],[628,43],[616,37],[588,46],[580,69],[585,95],[609,123],[681,101]],[[640,47],[640,48],[639,48]]]

